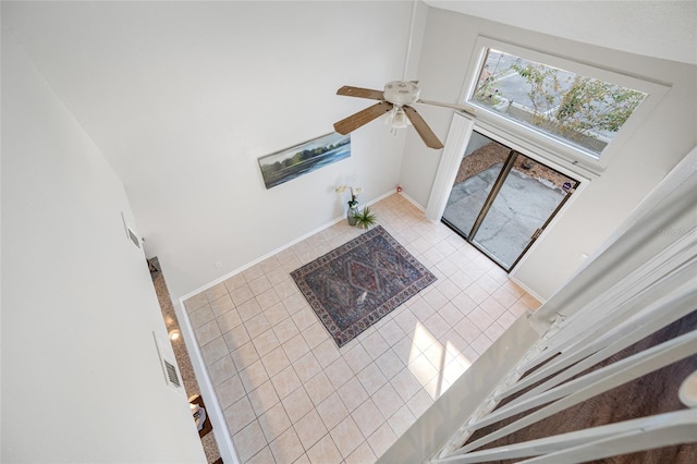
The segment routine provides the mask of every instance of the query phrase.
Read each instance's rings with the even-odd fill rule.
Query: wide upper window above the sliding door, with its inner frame
[[[638,124],[667,88],[522,47],[479,38],[465,90],[477,118],[603,167],[606,148]],[[651,105],[646,105],[653,96]],[[484,111],[481,111],[484,110]]]

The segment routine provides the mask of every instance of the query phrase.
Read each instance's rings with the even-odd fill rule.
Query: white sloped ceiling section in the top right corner
[[[424,0],[585,44],[697,64],[697,1]]]

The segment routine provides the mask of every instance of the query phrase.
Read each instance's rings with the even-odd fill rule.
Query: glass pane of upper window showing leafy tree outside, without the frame
[[[489,49],[469,101],[599,157],[646,96]]]

